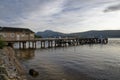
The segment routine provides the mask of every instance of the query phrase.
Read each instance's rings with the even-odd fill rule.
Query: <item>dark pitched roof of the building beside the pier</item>
[[[34,33],[28,28],[0,27],[0,32],[29,32]]]

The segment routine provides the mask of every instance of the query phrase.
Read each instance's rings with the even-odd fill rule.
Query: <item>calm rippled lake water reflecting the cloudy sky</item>
[[[26,69],[39,76],[29,80],[120,80],[120,39],[106,45],[16,50]]]

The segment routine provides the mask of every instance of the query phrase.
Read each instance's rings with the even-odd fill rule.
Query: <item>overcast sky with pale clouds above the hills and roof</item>
[[[120,0],[0,0],[0,26],[64,33],[120,29]]]

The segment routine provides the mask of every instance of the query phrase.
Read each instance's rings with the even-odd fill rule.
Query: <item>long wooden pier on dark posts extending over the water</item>
[[[7,45],[13,46],[14,43],[19,43],[19,49],[26,48],[37,48],[37,45],[40,45],[40,48],[51,48],[51,47],[64,47],[64,46],[76,46],[83,44],[107,44],[108,39],[103,38],[37,38],[30,40],[5,40]],[[40,44],[38,44],[38,43]],[[46,45],[47,43],[47,45]],[[28,47],[26,47],[28,45]]]

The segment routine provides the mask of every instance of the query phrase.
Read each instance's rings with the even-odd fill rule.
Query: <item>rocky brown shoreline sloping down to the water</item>
[[[0,50],[0,80],[27,80],[25,70],[11,47]]]

